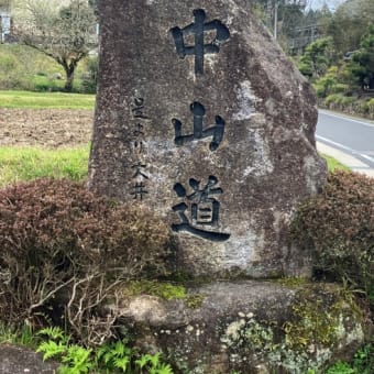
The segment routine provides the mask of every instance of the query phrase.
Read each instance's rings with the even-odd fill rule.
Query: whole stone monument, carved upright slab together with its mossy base
[[[111,306],[134,345],[196,374],[301,374],[352,353],[365,327],[339,287],[215,282],[308,274],[287,228],[326,178],[309,84],[250,1],[107,0],[99,13],[89,187],[151,208],[179,270],[212,279]]]

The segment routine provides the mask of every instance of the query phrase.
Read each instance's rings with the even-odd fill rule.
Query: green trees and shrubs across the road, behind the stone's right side
[[[252,9],[320,105],[374,119],[374,0],[345,0],[334,11],[306,0],[256,0]]]

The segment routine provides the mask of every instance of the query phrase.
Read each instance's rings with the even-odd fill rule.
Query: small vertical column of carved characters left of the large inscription
[[[134,97],[131,107],[133,119],[132,154],[134,162],[131,164],[131,195],[134,200],[143,200],[148,194],[146,183],[150,179],[147,165],[143,162],[146,150],[145,131],[148,117],[144,114],[144,99]]]

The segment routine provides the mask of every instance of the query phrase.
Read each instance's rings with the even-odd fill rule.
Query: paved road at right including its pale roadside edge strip
[[[318,148],[358,172],[374,176],[374,122],[320,110]]]

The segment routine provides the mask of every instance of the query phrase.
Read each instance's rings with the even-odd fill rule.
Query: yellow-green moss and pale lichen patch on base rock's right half
[[[336,286],[324,288],[305,280],[288,284],[295,286],[301,287],[283,326],[253,314],[242,314],[224,326],[221,342],[235,352],[235,360],[252,356],[254,365],[267,363],[274,370],[306,373],[320,370],[342,340],[362,339],[362,316],[351,295]]]

